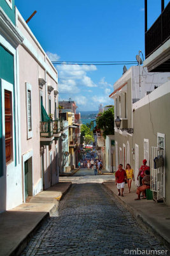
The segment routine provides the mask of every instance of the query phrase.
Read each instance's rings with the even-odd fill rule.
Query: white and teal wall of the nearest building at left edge
[[[0,212],[22,203],[22,175],[20,159],[20,113],[17,83],[17,46],[22,39],[15,29],[14,1],[11,8],[4,0],[0,3]],[[6,16],[7,15],[7,16]],[[12,28],[12,29],[10,29]],[[9,36],[10,31],[10,36]],[[8,38],[6,36],[9,36]],[[15,45],[15,46],[14,46]],[[6,163],[4,90],[11,92],[11,159]]]

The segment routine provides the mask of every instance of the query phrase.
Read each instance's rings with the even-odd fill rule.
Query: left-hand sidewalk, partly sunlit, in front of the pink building
[[[59,200],[71,187],[71,182],[59,182],[28,203],[0,214],[0,256],[20,255],[27,241],[41,222],[57,211]]]

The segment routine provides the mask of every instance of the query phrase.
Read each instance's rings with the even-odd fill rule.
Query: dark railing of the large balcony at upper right
[[[159,18],[145,33],[145,58],[156,51],[170,38],[170,2],[167,4]]]

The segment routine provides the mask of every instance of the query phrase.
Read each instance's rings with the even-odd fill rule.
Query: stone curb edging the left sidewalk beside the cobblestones
[[[34,228],[32,228],[32,230],[29,232],[29,234],[26,234],[26,236],[17,245],[17,247],[13,250],[13,252],[11,252],[9,254],[9,256],[19,256],[24,251],[25,247],[27,246],[27,244],[31,240],[32,236],[34,236],[34,234],[36,234],[37,230],[41,227],[43,222],[45,220],[47,220],[48,218],[50,218],[50,215],[52,215],[53,212],[58,211],[59,201],[64,198],[64,196],[69,191],[71,186],[72,186],[72,184],[70,184],[69,187],[66,189],[66,191],[64,191],[64,193],[62,193],[62,196],[60,196],[59,200],[56,200],[55,204],[49,210],[49,212],[45,212],[45,214],[42,216],[41,220],[39,220],[39,222],[36,224],[36,226]]]

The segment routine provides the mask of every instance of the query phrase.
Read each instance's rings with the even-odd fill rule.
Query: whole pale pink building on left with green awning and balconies
[[[16,9],[16,26],[24,38],[17,58],[20,84],[20,156],[23,202],[59,180],[58,74]],[[49,116],[51,119],[49,118]]]

